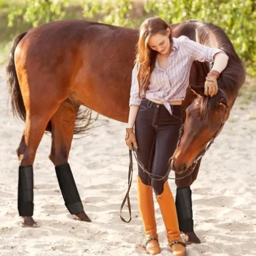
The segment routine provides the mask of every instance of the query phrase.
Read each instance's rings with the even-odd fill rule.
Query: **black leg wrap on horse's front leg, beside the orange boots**
[[[180,231],[193,231],[192,191],[190,187],[177,188],[176,211]]]

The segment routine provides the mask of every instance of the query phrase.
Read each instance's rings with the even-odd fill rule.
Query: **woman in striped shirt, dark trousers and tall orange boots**
[[[161,18],[148,18],[141,24],[137,55],[132,71],[130,113],[126,145],[138,149],[138,159],[155,178],[165,176],[182,125],[182,100],[188,88],[193,61],[214,61],[207,74],[205,95],[217,94],[217,78],[226,68],[228,56],[186,36],[172,38],[168,24]],[[135,133],[134,133],[135,124]],[[137,143],[138,141],[138,143]],[[185,255],[172,193],[167,180],[151,180],[138,166],[138,203],[147,238],[146,251],[160,253],[153,190],[166,227],[166,236],[174,255]]]

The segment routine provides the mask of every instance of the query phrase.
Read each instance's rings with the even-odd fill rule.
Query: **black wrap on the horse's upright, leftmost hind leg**
[[[18,214],[31,217],[34,212],[34,176],[33,166],[19,166],[18,168]]]

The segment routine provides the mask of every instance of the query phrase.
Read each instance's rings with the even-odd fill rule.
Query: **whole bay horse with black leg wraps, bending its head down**
[[[170,29],[174,37],[188,36],[199,43],[222,49],[229,57],[228,66],[218,80],[222,90],[212,99],[197,97],[191,90],[193,88],[197,94],[202,94],[199,88],[205,82],[209,64],[195,61],[192,65],[191,88],[188,88],[182,103],[184,132],[170,161],[178,177],[179,173],[190,170],[190,163],[205,148],[205,143],[213,138],[212,129],[228,118],[244,82],[245,72],[232,43],[217,26],[190,20],[171,24]],[[36,226],[32,218],[33,164],[45,131],[51,132],[49,159],[55,165],[64,203],[72,215],[90,221],[68,164],[72,138],[87,128],[91,122],[91,110],[128,122],[137,41],[138,30],[85,20],[50,22],[14,38],[7,63],[7,83],[13,113],[25,122],[17,148],[18,211],[22,226]],[[79,115],[82,105],[88,108],[87,115]],[[88,122],[78,126],[88,116]],[[189,150],[190,145],[193,145],[193,150]],[[193,226],[188,223],[192,217],[192,203],[187,207],[190,209],[184,207],[188,200],[191,201],[191,193],[187,196],[184,189],[190,188],[197,178],[199,165],[200,161],[188,178],[176,182],[177,192],[182,192],[180,197],[176,197],[180,230],[186,234],[188,243],[200,242]],[[190,227],[186,228],[186,225]]]

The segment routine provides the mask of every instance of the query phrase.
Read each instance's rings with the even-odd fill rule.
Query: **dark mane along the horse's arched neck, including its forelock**
[[[238,96],[238,90],[245,82],[245,70],[230,39],[221,28],[209,22],[197,20],[188,20],[187,22],[196,24],[195,31],[199,43],[222,49],[228,55],[228,65],[220,74],[220,78],[218,78],[218,88],[224,91],[228,99],[234,101]],[[217,106],[220,97],[223,97],[221,94],[221,92],[218,93],[218,97],[200,97],[202,116],[207,117],[207,113]]]

